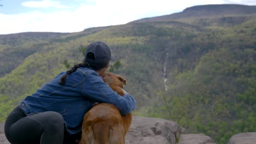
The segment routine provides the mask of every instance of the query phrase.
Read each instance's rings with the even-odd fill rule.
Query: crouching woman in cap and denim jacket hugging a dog
[[[36,93],[26,97],[5,121],[10,143],[75,143],[81,136],[83,117],[94,103],[115,105],[122,115],[130,113],[136,100],[114,92],[101,76],[111,59],[106,43],[91,43],[84,62],[62,71]]]

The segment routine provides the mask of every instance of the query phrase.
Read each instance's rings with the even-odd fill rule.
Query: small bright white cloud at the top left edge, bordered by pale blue
[[[28,1],[22,3],[24,7],[29,8],[68,8],[66,5],[62,5],[59,1],[43,0],[43,1]]]

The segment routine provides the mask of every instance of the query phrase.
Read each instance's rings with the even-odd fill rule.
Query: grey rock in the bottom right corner
[[[256,132],[240,133],[233,135],[228,144],[253,144],[256,143]]]

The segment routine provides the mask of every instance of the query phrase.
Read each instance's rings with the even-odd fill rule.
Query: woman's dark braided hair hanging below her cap
[[[80,67],[82,67],[82,68],[89,68],[90,67],[91,69],[93,69],[95,71],[108,67],[109,62],[94,63],[91,60],[95,60],[95,57],[94,57],[94,53],[89,52],[87,54],[87,58],[84,59],[83,63],[79,63],[79,64],[74,65],[74,67],[72,67],[71,69],[66,71],[65,75],[61,76],[61,79],[59,81],[60,85],[65,85],[67,75],[74,73]]]

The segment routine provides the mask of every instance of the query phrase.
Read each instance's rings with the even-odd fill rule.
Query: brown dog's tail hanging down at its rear
[[[109,143],[109,127],[106,122],[98,122],[94,125],[95,141],[98,143]]]

